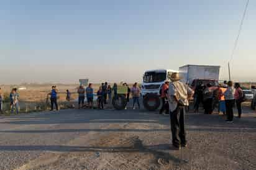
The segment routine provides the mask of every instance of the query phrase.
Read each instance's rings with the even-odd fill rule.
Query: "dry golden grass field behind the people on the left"
[[[53,84],[21,84],[21,86],[26,87],[26,90],[19,90],[19,101],[21,112],[35,112],[42,111],[45,109],[50,109],[50,103],[47,103],[47,97],[52,89]],[[60,109],[67,109],[71,104],[76,104],[76,99],[78,99],[77,89],[79,84],[55,84],[58,89],[58,103],[60,105]],[[111,84],[112,86],[113,84]],[[2,89],[2,93],[4,94],[4,98],[9,100],[9,94],[11,89],[14,87],[21,86],[13,86],[13,85],[2,85],[0,86]],[[99,86],[101,84],[93,84],[94,92],[98,91]],[[131,86],[131,85],[129,85]],[[71,92],[71,101],[66,101],[66,89]],[[4,103],[4,112],[9,114],[9,102],[6,100]]]

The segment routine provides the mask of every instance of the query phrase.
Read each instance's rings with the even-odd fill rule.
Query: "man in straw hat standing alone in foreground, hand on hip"
[[[171,74],[171,83],[168,90],[170,107],[170,122],[173,147],[180,150],[186,147],[185,131],[185,107],[189,105],[189,99],[193,96],[193,90],[180,81],[178,73]]]

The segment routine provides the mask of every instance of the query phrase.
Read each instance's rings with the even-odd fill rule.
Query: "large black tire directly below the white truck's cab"
[[[143,104],[145,109],[150,110],[150,111],[155,111],[158,109],[160,106],[160,98],[157,94],[147,94],[143,98]]]

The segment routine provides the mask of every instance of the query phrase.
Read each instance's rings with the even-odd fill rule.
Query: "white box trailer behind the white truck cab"
[[[185,65],[180,67],[181,81],[191,84],[194,79],[207,79],[219,81],[221,66]]]

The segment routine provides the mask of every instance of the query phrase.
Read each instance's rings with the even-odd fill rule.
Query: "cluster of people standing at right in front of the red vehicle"
[[[232,123],[234,117],[234,104],[237,105],[239,118],[242,115],[242,102],[244,102],[244,92],[240,84],[233,84],[232,81],[224,81],[218,87],[213,87],[210,83],[204,86],[200,82],[194,94],[194,112],[198,112],[199,105],[203,104],[204,114],[212,114],[217,105],[218,111],[227,115],[227,123]]]

